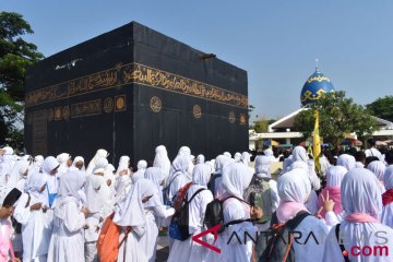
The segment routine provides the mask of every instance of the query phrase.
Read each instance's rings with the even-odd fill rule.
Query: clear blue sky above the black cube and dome
[[[319,58],[336,90],[365,105],[392,95],[393,1],[0,0],[45,56],[131,21],[248,71],[253,115],[283,117]]]

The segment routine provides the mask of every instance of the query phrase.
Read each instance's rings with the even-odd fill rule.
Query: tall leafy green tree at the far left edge
[[[23,16],[0,12],[0,144],[23,141],[24,80],[29,66],[44,56],[22,36],[33,34]]]

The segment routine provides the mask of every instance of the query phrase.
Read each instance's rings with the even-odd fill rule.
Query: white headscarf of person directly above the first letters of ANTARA
[[[252,179],[252,170],[240,163],[231,163],[224,167],[223,186],[227,193],[243,198],[245,190]]]

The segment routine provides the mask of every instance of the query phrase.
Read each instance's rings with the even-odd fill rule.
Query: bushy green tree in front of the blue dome
[[[314,128],[314,110],[319,110],[320,135],[324,143],[333,146],[341,144],[345,134],[355,132],[359,138],[370,135],[377,129],[377,122],[365,107],[345,97],[345,92],[327,93],[309,106],[295,119],[295,130],[307,139]]]

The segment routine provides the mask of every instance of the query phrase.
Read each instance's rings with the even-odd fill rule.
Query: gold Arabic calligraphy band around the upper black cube
[[[26,107],[66,99],[106,88],[140,84],[168,92],[247,108],[246,95],[139,63],[115,68],[26,93]]]

